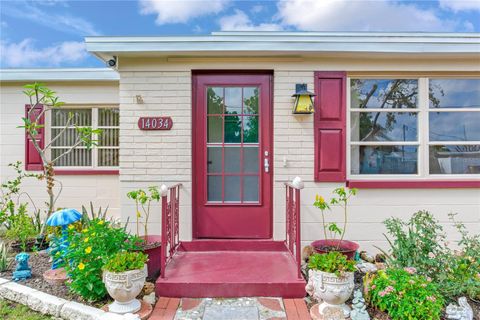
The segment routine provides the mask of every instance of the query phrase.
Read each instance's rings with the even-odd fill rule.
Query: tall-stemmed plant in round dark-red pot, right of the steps
[[[317,194],[313,205],[322,212],[322,224],[324,240],[316,240],[312,242],[312,247],[318,253],[327,253],[330,251],[338,251],[343,253],[349,259],[353,259],[359,245],[353,241],[344,240],[345,231],[348,223],[348,201],[357,194],[357,189],[345,189],[343,187],[333,190],[336,197],[330,199],[330,204],[325,201],[322,196]],[[325,222],[325,211],[330,210],[330,205],[338,205],[343,209],[343,228],[340,228],[335,222]],[[328,235],[327,235],[328,233]]]

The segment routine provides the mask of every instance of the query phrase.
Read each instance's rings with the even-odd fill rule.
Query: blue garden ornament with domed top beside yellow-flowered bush
[[[67,241],[67,226],[82,218],[82,214],[75,209],[62,209],[54,212],[50,218],[47,219],[47,226],[62,227],[62,236],[53,241],[53,245],[48,249],[50,254],[54,257],[52,263],[52,270],[59,268],[63,262],[63,257],[68,250]],[[59,252],[59,254],[57,254]]]

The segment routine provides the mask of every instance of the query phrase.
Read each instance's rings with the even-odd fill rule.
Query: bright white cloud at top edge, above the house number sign
[[[226,8],[228,0],[140,0],[141,14],[156,14],[156,24],[186,23],[192,18],[217,14]]]

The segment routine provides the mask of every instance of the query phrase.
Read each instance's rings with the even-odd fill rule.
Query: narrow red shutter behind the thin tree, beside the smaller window
[[[30,110],[31,106],[29,104],[25,105],[25,117],[28,116],[28,111]],[[35,118],[42,112],[43,106],[37,105],[35,110],[32,111],[30,114],[30,119],[33,121]],[[39,119],[39,124],[45,123],[45,117]],[[35,137],[35,140],[38,141],[38,145],[40,148],[43,148],[45,145],[45,128],[38,129],[38,134]],[[27,132],[25,131],[25,169],[26,170],[42,170],[42,159],[38,154],[37,150],[33,146],[31,138],[28,136]]]

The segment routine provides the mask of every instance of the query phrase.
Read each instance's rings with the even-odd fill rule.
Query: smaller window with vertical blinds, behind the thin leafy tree
[[[68,124],[69,115],[74,118]],[[98,146],[87,149],[80,143],[69,154],[56,162],[56,167],[108,169],[118,167],[119,158],[119,110],[116,108],[63,108],[52,110],[50,139],[52,159],[57,158],[78,142],[78,134],[71,123],[92,126],[102,130],[93,137]],[[68,125],[68,127],[66,127]],[[58,138],[55,138],[57,137]]]

